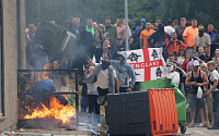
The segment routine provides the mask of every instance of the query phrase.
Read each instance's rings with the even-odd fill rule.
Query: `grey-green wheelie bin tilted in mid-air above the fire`
[[[42,22],[34,36],[34,42],[45,49],[67,54],[72,53],[77,40],[77,37],[66,28],[49,22]]]

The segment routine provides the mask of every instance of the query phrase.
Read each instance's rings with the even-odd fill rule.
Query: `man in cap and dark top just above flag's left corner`
[[[120,51],[125,51],[126,50],[126,46],[123,42],[123,37],[117,37],[116,38],[116,44],[113,46],[112,48],[112,60],[118,60],[118,53]]]

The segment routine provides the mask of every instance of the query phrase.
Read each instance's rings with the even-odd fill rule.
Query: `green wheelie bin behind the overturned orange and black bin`
[[[148,89],[158,89],[158,88],[175,88],[175,102],[177,109],[177,120],[181,126],[181,133],[185,134],[186,127],[186,99],[185,96],[181,92],[181,90],[176,87],[176,85],[170,78],[164,79],[155,79],[140,83],[140,89],[146,91]]]

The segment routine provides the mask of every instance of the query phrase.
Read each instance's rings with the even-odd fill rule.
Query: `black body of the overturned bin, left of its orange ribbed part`
[[[105,115],[110,135],[150,136],[148,91],[108,94]]]

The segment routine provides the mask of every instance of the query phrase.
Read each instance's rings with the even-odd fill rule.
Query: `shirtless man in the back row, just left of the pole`
[[[117,25],[117,37],[123,37],[123,39],[125,39],[126,38],[126,26],[124,25],[123,18],[117,18],[116,25]]]

